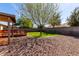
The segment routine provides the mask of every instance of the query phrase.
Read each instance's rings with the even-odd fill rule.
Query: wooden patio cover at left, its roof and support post
[[[12,29],[11,26],[13,26],[13,24],[16,23],[15,15],[0,12],[0,21],[7,22],[8,40],[10,40],[10,30]],[[10,23],[12,23],[12,25],[10,25]]]

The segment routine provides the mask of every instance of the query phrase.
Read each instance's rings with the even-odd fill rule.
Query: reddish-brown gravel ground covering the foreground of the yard
[[[12,38],[0,47],[1,56],[79,56],[79,38],[52,36],[48,38]]]

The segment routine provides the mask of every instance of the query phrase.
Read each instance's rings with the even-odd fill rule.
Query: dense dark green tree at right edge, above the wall
[[[67,18],[70,26],[79,26],[79,7],[75,8],[70,17]]]

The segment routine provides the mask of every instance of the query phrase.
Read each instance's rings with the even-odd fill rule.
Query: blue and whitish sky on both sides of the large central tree
[[[66,22],[66,18],[70,16],[71,12],[76,7],[79,7],[79,3],[60,3],[59,4],[59,11],[61,12],[62,23]],[[0,3],[0,12],[16,15],[16,18],[18,18],[18,14],[15,8],[13,7],[13,4]]]

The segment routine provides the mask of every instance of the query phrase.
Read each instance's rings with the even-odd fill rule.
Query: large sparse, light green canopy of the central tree
[[[19,12],[42,28],[58,12],[58,8],[59,6],[54,3],[23,3],[20,5]]]

